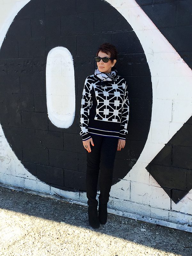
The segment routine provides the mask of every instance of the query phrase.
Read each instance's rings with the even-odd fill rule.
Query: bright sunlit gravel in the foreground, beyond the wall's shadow
[[[0,209],[0,255],[175,256],[93,229]],[[2,221],[3,220],[3,221]]]

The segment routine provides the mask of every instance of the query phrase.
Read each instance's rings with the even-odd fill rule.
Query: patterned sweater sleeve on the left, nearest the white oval
[[[87,77],[84,83],[80,112],[80,135],[82,136],[82,140],[88,140],[91,138],[88,132],[89,111],[92,107],[91,88],[92,86],[89,84]]]

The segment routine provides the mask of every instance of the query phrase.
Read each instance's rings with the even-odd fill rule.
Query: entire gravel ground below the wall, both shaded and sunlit
[[[0,255],[192,255],[192,233],[108,213],[99,229],[87,207],[0,187]]]

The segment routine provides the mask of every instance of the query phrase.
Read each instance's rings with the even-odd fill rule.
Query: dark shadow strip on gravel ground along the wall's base
[[[65,222],[69,225],[91,229],[101,234],[133,241],[168,253],[156,255],[170,255],[169,253],[182,256],[192,255],[191,233],[109,213],[105,225],[101,225],[99,229],[92,229],[87,220],[87,207],[78,204],[0,187],[0,212],[3,209],[13,211],[13,215],[14,212],[20,212],[29,216]]]

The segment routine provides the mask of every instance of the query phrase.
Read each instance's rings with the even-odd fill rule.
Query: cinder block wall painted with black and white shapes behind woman
[[[0,182],[87,202],[81,96],[98,46],[109,42],[129,85],[130,121],[108,206],[192,224],[192,1],[0,0],[0,13]],[[49,62],[55,74],[46,72],[58,46],[73,59],[74,95],[65,56]],[[50,81],[54,95],[47,94]],[[48,96],[52,114],[62,116],[58,124],[49,118]],[[74,107],[68,98],[75,113],[65,127],[62,113]]]

